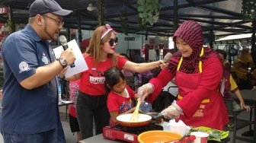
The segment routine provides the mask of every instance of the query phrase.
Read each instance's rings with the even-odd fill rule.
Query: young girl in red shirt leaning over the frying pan
[[[117,116],[133,113],[132,99],[137,99],[135,92],[126,85],[123,73],[115,67],[104,72],[107,96],[107,109],[110,112],[110,126],[117,122]]]

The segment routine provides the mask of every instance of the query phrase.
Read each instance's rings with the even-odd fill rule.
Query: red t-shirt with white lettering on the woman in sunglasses
[[[111,59],[108,58],[105,62],[100,62],[98,67],[94,64],[94,59],[91,56],[85,55],[85,62],[88,65],[88,70],[82,72],[81,84],[79,91],[92,96],[98,96],[105,94],[104,89],[104,71],[113,67]],[[126,63],[126,58],[117,57],[117,68],[122,69]]]

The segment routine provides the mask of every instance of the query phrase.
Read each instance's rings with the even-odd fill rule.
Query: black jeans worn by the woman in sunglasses
[[[104,126],[109,125],[110,114],[107,110],[107,96],[91,96],[80,92],[76,101],[77,118],[82,138],[93,136],[93,120],[95,135],[101,134]]]

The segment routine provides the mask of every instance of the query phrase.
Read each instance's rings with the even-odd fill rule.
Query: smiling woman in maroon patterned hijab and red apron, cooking
[[[138,94],[152,102],[162,87],[175,78],[178,85],[178,100],[168,106],[164,113],[167,119],[181,119],[187,126],[207,126],[223,129],[229,122],[228,113],[219,83],[222,78],[222,63],[213,49],[203,47],[203,32],[195,21],[185,21],[173,37],[178,47],[156,78],[139,87]]]

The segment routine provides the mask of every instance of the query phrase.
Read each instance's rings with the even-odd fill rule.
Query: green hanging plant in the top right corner
[[[253,21],[256,19],[256,1],[255,0],[242,0],[242,18]]]

